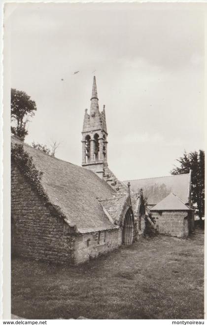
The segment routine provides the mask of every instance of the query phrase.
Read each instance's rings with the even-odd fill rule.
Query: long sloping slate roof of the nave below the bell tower
[[[41,184],[50,202],[60,207],[68,223],[75,224],[78,232],[116,228],[97,199],[115,197],[115,191],[107,182],[92,171],[51,157],[16,138],[11,142],[23,144],[33,157],[36,169],[43,172]]]

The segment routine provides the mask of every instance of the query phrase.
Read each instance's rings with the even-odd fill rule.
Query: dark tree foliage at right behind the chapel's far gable
[[[172,175],[189,173],[192,170],[191,190],[192,203],[200,219],[205,212],[205,152],[204,150],[191,151],[183,154],[183,157],[177,159],[180,167],[174,167],[171,171]]]

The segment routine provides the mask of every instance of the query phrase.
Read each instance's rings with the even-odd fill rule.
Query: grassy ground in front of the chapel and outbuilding
[[[15,258],[12,313],[29,319],[204,318],[204,233],[143,238],[78,267]]]

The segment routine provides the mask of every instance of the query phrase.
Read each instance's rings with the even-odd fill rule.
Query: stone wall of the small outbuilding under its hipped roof
[[[189,216],[187,211],[151,212],[160,234],[185,237],[189,234]]]

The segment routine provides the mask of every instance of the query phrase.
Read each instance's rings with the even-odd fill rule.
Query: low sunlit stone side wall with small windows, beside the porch
[[[121,245],[120,230],[104,230],[75,237],[75,264],[85,262]]]

